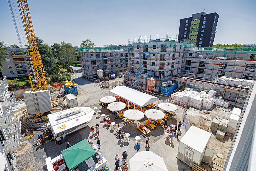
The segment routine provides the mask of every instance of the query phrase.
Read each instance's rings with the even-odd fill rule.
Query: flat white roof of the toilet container
[[[211,138],[211,133],[203,129],[191,126],[189,130],[183,135],[180,143],[191,147],[192,149],[202,153],[205,149],[209,139]]]

